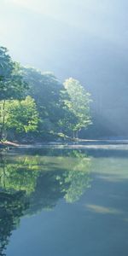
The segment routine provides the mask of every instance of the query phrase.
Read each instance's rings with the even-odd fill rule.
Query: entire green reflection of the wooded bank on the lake
[[[91,160],[80,150],[1,155],[0,255],[21,216],[53,209],[60,199],[79,201],[90,187]]]

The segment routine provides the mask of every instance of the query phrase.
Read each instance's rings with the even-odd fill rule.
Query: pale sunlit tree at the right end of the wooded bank
[[[90,93],[76,79],[67,79],[64,83],[69,99],[65,99],[65,106],[73,115],[73,137],[78,137],[78,132],[91,124],[90,119]]]

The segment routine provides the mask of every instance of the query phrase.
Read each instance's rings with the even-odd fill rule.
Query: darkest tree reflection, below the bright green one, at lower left
[[[8,245],[9,236],[20,223],[20,217],[27,207],[24,192],[0,192],[0,255],[5,255],[3,252]]]

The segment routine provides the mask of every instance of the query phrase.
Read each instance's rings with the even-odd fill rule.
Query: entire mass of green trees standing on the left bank
[[[90,94],[76,79],[20,67],[0,48],[0,138],[35,141],[79,137],[91,124]]]

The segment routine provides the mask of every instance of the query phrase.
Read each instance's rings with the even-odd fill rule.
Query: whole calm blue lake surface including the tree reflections
[[[128,255],[125,145],[22,148],[0,162],[0,255]]]

